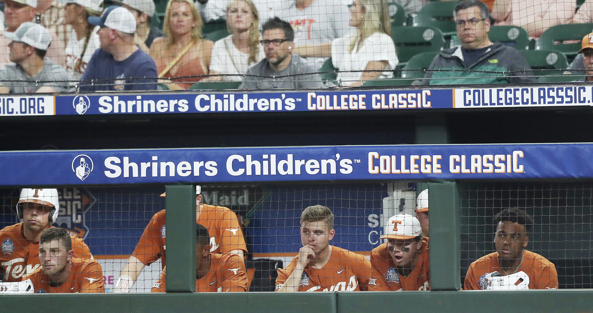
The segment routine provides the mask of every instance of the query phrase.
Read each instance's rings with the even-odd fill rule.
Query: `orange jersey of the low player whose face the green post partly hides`
[[[210,270],[206,276],[196,279],[196,292],[243,292],[247,291],[247,271],[243,259],[237,254],[210,254]],[[152,286],[151,292],[165,292],[167,269]]]

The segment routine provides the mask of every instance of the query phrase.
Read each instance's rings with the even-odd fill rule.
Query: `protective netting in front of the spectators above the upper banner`
[[[9,0],[0,80],[12,93],[585,80],[590,1],[458,4]]]

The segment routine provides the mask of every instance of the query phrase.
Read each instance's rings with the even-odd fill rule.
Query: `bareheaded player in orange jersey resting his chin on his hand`
[[[305,208],[301,214],[298,256],[278,269],[276,291],[370,291],[378,290],[379,275],[360,254],[331,246],[334,215],[322,205]]]

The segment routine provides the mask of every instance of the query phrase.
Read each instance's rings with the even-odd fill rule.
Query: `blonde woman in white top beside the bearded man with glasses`
[[[212,49],[209,80],[241,81],[247,68],[265,57],[259,43],[259,16],[251,0],[228,2],[227,29],[231,34]]]

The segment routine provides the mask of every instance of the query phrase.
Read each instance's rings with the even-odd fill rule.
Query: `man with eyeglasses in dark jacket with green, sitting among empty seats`
[[[490,11],[478,0],[461,1],[453,9],[461,47],[441,51],[432,60],[424,79],[412,85],[461,85],[534,83],[531,67],[521,52],[492,43]],[[431,70],[438,70],[432,72]]]

